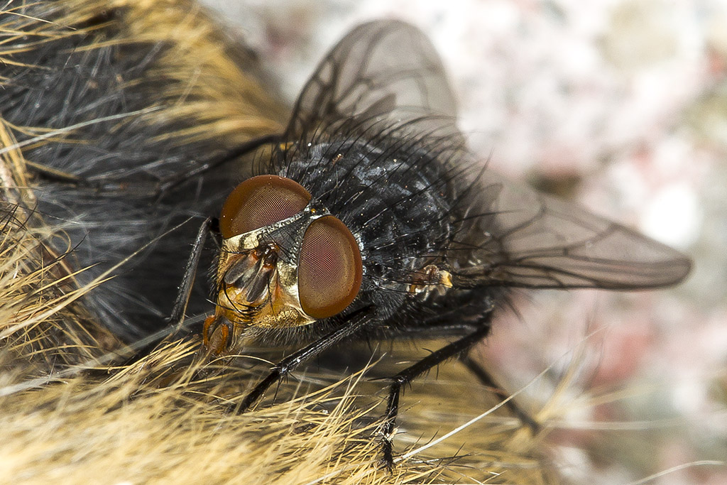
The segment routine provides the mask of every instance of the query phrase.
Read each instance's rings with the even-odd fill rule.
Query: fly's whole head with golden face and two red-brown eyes
[[[351,231],[293,180],[260,175],[238,185],[220,216],[217,305],[204,323],[214,353],[251,326],[285,328],[341,313],[361,288]]]

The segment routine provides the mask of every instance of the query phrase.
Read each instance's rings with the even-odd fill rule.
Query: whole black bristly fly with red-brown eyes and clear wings
[[[406,23],[361,25],[318,65],[270,159],[199,231],[172,312],[180,325],[212,232],[221,242],[209,352],[248,339],[306,344],[241,411],[340,342],[449,336],[390,379],[382,446],[392,465],[403,385],[456,356],[494,385],[467,352],[511,289],[649,289],[686,277],[680,252],[499,177],[467,151],[456,118],[441,60]]]

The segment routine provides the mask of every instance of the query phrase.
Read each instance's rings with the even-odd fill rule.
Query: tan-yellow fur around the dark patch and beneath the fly
[[[63,25],[78,25],[110,4],[128,7],[119,38],[105,36],[103,25],[92,32]],[[169,103],[139,116],[150,123],[161,117],[196,119],[193,129],[167,135],[174,143],[207,137],[231,146],[282,126],[284,110],[251,75],[252,60],[250,71],[241,71],[238,66],[245,63],[229,57],[239,52],[230,48],[233,39],[194,4],[49,2],[49,8],[65,10],[64,21],[54,24],[17,17],[12,4],[8,8],[0,12],[0,28],[11,39],[0,44],[5,63],[12,62],[15,49],[39,48],[53,36],[89,34],[99,46],[171,43],[174,49],[156,73],[177,81],[165,93]],[[72,254],[60,257],[51,249],[52,239],[63,238],[63,228],[47,225],[28,209],[33,207],[33,181],[23,148],[15,147],[15,129],[36,135],[47,131],[9,127],[0,119],[0,149],[9,148],[0,164],[1,483],[555,481],[542,438],[532,438],[501,412],[414,452],[391,472],[382,469],[377,429],[385,382],[369,382],[367,374],[300,371],[300,382],[281,385],[278,404],[236,414],[230,409],[268,369],[265,362],[244,357],[210,361],[200,339],[193,338],[166,342],[141,361],[123,365],[129,351],[79,302],[90,286],[113,275],[78,288],[73,276],[82,269],[73,267]],[[39,138],[37,143],[53,140]],[[413,360],[425,353],[422,348],[431,347],[395,346],[395,357],[374,364],[374,370],[395,358]],[[406,390],[395,450],[411,452],[486,412],[494,402],[459,364],[442,366],[437,379],[432,375]]]

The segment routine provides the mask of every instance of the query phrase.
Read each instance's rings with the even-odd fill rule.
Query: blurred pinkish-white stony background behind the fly
[[[549,369],[541,405],[577,370],[552,434],[573,481],[727,483],[727,1],[206,3],[291,103],[353,25],[418,25],[493,169],[690,254],[674,289],[523,294],[481,352],[510,390]]]

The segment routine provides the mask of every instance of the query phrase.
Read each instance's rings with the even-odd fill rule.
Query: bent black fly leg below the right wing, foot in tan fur
[[[489,315],[480,322],[474,332],[462,337],[459,340],[445,345],[439,350],[435,350],[425,358],[422,358],[416,364],[403,369],[403,371],[391,378],[393,381],[389,389],[389,398],[386,406],[385,422],[382,429],[384,438],[382,441],[382,452],[384,454],[383,462],[387,468],[391,469],[394,465],[392,434],[395,428],[396,415],[399,411],[399,393],[404,385],[409,384],[419,375],[432,369],[434,366],[441,364],[449,358],[457,356],[469,350],[475,343],[480,342],[490,332]]]

